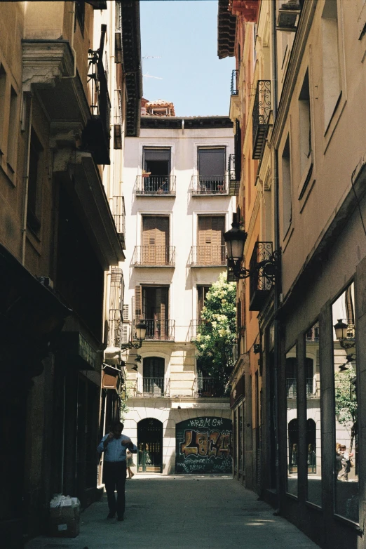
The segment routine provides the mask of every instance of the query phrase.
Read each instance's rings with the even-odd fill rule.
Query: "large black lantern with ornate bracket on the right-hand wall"
[[[248,237],[248,234],[240,227],[240,223],[237,222],[236,216],[233,216],[233,223],[231,229],[224,232],[224,241],[226,244],[227,264],[229,269],[232,269],[233,276],[239,280],[248,278],[252,274],[260,274],[266,277],[269,282],[273,283],[276,279],[276,274],[279,270],[279,258],[280,251],[274,251],[268,258],[258,261],[254,267],[250,270],[246,267],[241,267],[240,264],[243,260],[244,244]]]

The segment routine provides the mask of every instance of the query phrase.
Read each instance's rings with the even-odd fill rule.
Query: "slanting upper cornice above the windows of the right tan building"
[[[301,11],[299,27],[297,28],[296,37],[292,46],[290,62],[287,67],[285,83],[283,84],[283,91],[280,97],[280,105],[278,106],[276,123],[273,127],[272,143],[276,149],[278,149],[282,138],[283,128],[285,127],[287,114],[290,109],[292,93],[297,84],[297,75],[299,74],[299,69],[301,67],[306,41],[309,37],[317,4],[318,0],[308,0],[304,2],[304,6]]]

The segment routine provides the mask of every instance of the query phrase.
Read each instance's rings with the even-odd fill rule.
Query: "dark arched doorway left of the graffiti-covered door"
[[[161,472],[163,468],[163,423],[155,418],[137,423],[137,472]]]

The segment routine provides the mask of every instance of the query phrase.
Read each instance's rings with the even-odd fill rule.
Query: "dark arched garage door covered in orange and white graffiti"
[[[231,473],[231,419],[202,417],[175,425],[176,472]]]

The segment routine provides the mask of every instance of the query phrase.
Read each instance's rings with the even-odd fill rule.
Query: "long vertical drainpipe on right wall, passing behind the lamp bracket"
[[[273,126],[277,118],[278,97],[277,97],[277,37],[276,37],[276,0],[271,2],[271,53],[272,53],[272,98],[273,98]],[[274,249],[280,249],[279,232],[279,197],[278,197],[278,151],[273,150],[273,190],[274,190]],[[280,365],[280,323],[278,320],[278,307],[280,305],[280,277],[274,287],[274,361],[273,361],[273,426],[275,440],[275,458],[276,458],[276,494],[277,494],[277,512],[280,512],[280,449],[279,449],[279,425],[278,425],[278,371]]]

